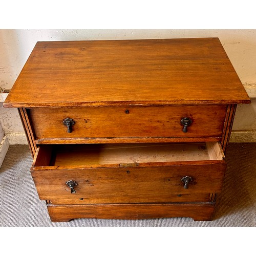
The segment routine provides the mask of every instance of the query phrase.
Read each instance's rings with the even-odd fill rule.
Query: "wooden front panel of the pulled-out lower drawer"
[[[97,204],[177,202],[180,198],[179,201],[190,202],[209,201],[208,194],[221,191],[226,163],[220,160],[161,167],[46,168],[31,172],[41,200]],[[182,178],[186,176],[190,181],[184,188]],[[75,182],[75,193],[71,193],[68,181]]]

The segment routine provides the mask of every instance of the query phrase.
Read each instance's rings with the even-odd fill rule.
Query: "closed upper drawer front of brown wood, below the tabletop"
[[[227,105],[28,109],[37,140],[47,138],[221,137]],[[70,118],[73,125],[63,121]],[[184,129],[183,118],[191,123]],[[185,125],[186,126],[186,125]]]

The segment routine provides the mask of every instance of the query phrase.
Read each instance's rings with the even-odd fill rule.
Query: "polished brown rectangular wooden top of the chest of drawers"
[[[250,99],[218,38],[37,42],[4,106]]]

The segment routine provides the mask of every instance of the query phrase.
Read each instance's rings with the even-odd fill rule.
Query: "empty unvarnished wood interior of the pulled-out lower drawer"
[[[218,142],[40,145],[32,168],[131,167],[150,163],[222,159],[224,154]]]

